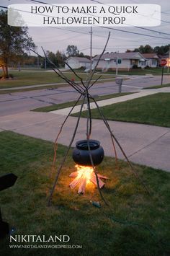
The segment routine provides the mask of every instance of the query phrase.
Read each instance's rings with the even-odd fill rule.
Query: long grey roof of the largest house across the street
[[[134,52],[134,53],[104,53],[101,60],[109,58],[110,60],[114,60],[115,58],[123,58],[123,59],[136,59],[145,60],[144,56],[141,53]],[[99,55],[93,58],[94,61],[97,61],[99,59]]]

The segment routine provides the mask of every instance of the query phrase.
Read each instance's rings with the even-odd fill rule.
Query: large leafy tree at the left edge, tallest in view
[[[7,12],[0,11],[0,57],[3,63],[4,77],[9,77],[9,61],[18,61],[24,50],[35,48],[27,27],[12,27],[7,25]]]

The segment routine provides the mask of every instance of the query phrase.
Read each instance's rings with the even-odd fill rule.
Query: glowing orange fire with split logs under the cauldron
[[[97,177],[99,182],[99,187],[104,186],[104,182],[102,179],[107,179],[107,177],[97,174],[97,177],[94,173],[94,169],[92,167],[86,167],[81,165],[76,165],[76,172],[72,172],[69,177],[73,177],[74,180],[70,183],[70,187],[74,188],[76,185],[79,185],[78,193],[85,193],[86,184],[94,183],[97,186]]]

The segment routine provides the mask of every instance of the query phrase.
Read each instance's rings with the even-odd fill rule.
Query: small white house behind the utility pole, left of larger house
[[[90,69],[90,60],[84,57],[70,57],[66,60],[69,66],[72,69],[80,69],[84,67],[85,69]],[[65,64],[65,69],[69,69],[69,67]]]

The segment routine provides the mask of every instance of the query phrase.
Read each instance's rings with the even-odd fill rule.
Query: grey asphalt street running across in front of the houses
[[[164,76],[164,84],[170,83],[170,76]],[[161,76],[130,76],[123,81],[122,92],[138,92],[140,89],[161,84]],[[118,92],[114,81],[95,84],[90,92],[93,96]],[[0,116],[12,115],[52,104],[76,100],[78,93],[71,87],[40,89],[28,92],[0,94]]]

